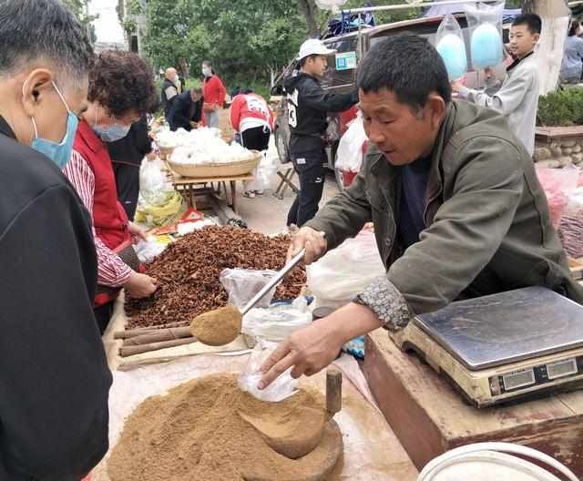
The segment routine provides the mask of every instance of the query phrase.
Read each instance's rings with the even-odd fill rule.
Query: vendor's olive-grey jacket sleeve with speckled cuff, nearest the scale
[[[492,169],[493,156],[507,161]],[[453,302],[486,267],[512,224],[524,184],[518,149],[500,138],[474,138],[459,149],[455,164],[454,196],[386,277],[357,298],[389,329],[403,328],[410,312],[433,312]]]

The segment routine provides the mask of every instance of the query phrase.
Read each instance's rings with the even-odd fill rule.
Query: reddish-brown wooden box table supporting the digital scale
[[[417,469],[460,445],[506,441],[534,447],[583,476],[583,391],[477,409],[384,329],[366,338],[363,372]]]

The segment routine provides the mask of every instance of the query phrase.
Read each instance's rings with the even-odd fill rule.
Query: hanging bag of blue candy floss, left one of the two
[[[464,34],[454,15],[445,15],[435,36],[435,49],[444,59],[450,81],[464,76],[467,71]]]

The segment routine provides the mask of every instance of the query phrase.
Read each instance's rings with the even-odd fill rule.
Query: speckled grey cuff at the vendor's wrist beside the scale
[[[371,309],[389,331],[402,330],[414,316],[403,294],[384,276],[373,281],[353,302]]]

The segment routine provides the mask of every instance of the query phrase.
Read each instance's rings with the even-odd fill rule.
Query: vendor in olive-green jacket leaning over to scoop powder
[[[495,111],[451,100],[433,46],[387,38],[357,81],[373,148],[353,185],[294,236],[290,254],[305,247],[310,263],[373,221],[387,273],[281,343],[260,388],[292,366],[294,377],[315,374],[353,337],[398,331],[457,299],[541,285],[583,303],[527,150]]]

